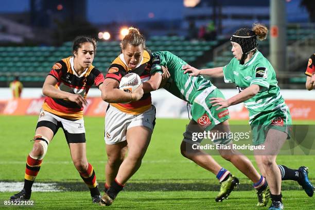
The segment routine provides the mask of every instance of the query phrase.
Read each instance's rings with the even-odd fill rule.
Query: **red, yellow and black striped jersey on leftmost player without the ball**
[[[104,76],[93,65],[86,68],[81,75],[77,75],[74,70],[74,57],[68,57],[55,63],[49,75],[55,77],[58,82],[56,89],[68,93],[79,94],[86,98],[91,86],[95,84],[97,87],[103,83]],[[43,109],[57,116],[66,119],[81,119],[83,117],[83,107],[76,102],[66,99],[56,99],[46,97]]]

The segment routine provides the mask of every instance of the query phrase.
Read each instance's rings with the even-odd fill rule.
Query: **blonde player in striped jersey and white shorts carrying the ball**
[[[142,85],[133,93],[118,89],[121,77],[138,74],[142,81],[150,78],[152,56],[145,50],[145,38],[136,28],[120,43],[122,53],[109,67],[104,80],[102,99],[110,103],[105,118],[106,164],[103,205],[111,205],[125,183],[138,170],[150,143],[155,124],[155,107],[150,93],[143,94]],[[128,156],[125,158],[128,144]]]

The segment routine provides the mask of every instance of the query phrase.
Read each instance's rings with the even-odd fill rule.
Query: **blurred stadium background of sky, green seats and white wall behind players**
[[[40,97],[51,66],[73,54],[72,41],[79,35],[98,40],[93,65],[104,75],[130,26],[145,35],[151,51],[168,50],[197,68],[211,68],[232,59],[231,34],[257,22],[269,28],[258,49],[275,68],[285,98],[315,98],[305,91],[304,75],[315,53],[313,0],[3,0],[0,99],[12,98],[9,85],[15,79],[24,87],[22,98]],[[237,93],[222,78],[212,81]],[[90,96],[99,92],[91,90]]]

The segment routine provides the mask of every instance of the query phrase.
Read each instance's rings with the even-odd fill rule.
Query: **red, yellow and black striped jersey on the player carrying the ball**
[[[135,69],[130,69],[125,60],[124,55],[120,54],[109,67],[106,78],[112,78],[120,82],[120,79],[129,73],[136,73],[140,76],[141,81],[145,82],[150,79],[150,70],[152,66],[152,55],[144,50],[141,62]],[[111,106],[116,107],[127,114],[141,114],[151,108],[151,94],[145,93],[138,101],[130,103],[111,103]]]

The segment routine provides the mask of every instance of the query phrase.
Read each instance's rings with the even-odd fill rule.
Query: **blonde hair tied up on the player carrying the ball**
[[[146,39],[139,32],[139,29],[134,28],[134,27],[129,27],[128,30],[129,30],[128,34],[120,42],[120,48],[126,49],[127,45],[131,44],[132,46],[142,45],[143,48],[145,49],[146,48]]]

